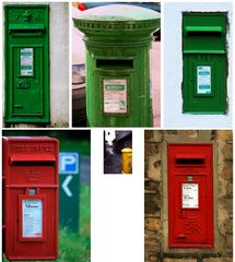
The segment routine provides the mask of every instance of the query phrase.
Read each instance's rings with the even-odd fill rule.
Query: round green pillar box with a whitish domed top
[[[152,126],[149,50],[160,14],[110,4],[86,11],[74,25],[85,34],[89,126]]]

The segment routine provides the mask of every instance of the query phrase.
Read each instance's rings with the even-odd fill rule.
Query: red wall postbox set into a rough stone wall
[[[168,245],[213,247],[212,144],[168,144]]]

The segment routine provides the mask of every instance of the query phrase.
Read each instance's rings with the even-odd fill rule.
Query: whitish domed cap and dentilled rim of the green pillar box
[[[87,39],[104,41],[152,40],[152,33],[160,28],[160,13],[131,4],[108,4],[85,11],[73,19],[74,26]]]

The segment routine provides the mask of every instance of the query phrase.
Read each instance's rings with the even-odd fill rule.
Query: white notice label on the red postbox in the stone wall
[[[198,183],[183,183],[183,209],[198,209]]]

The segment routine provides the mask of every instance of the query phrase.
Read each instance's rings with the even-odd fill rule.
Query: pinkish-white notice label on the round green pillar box
[[[127,80],[106,79],[103,81],[104,112],[127,112]]]

